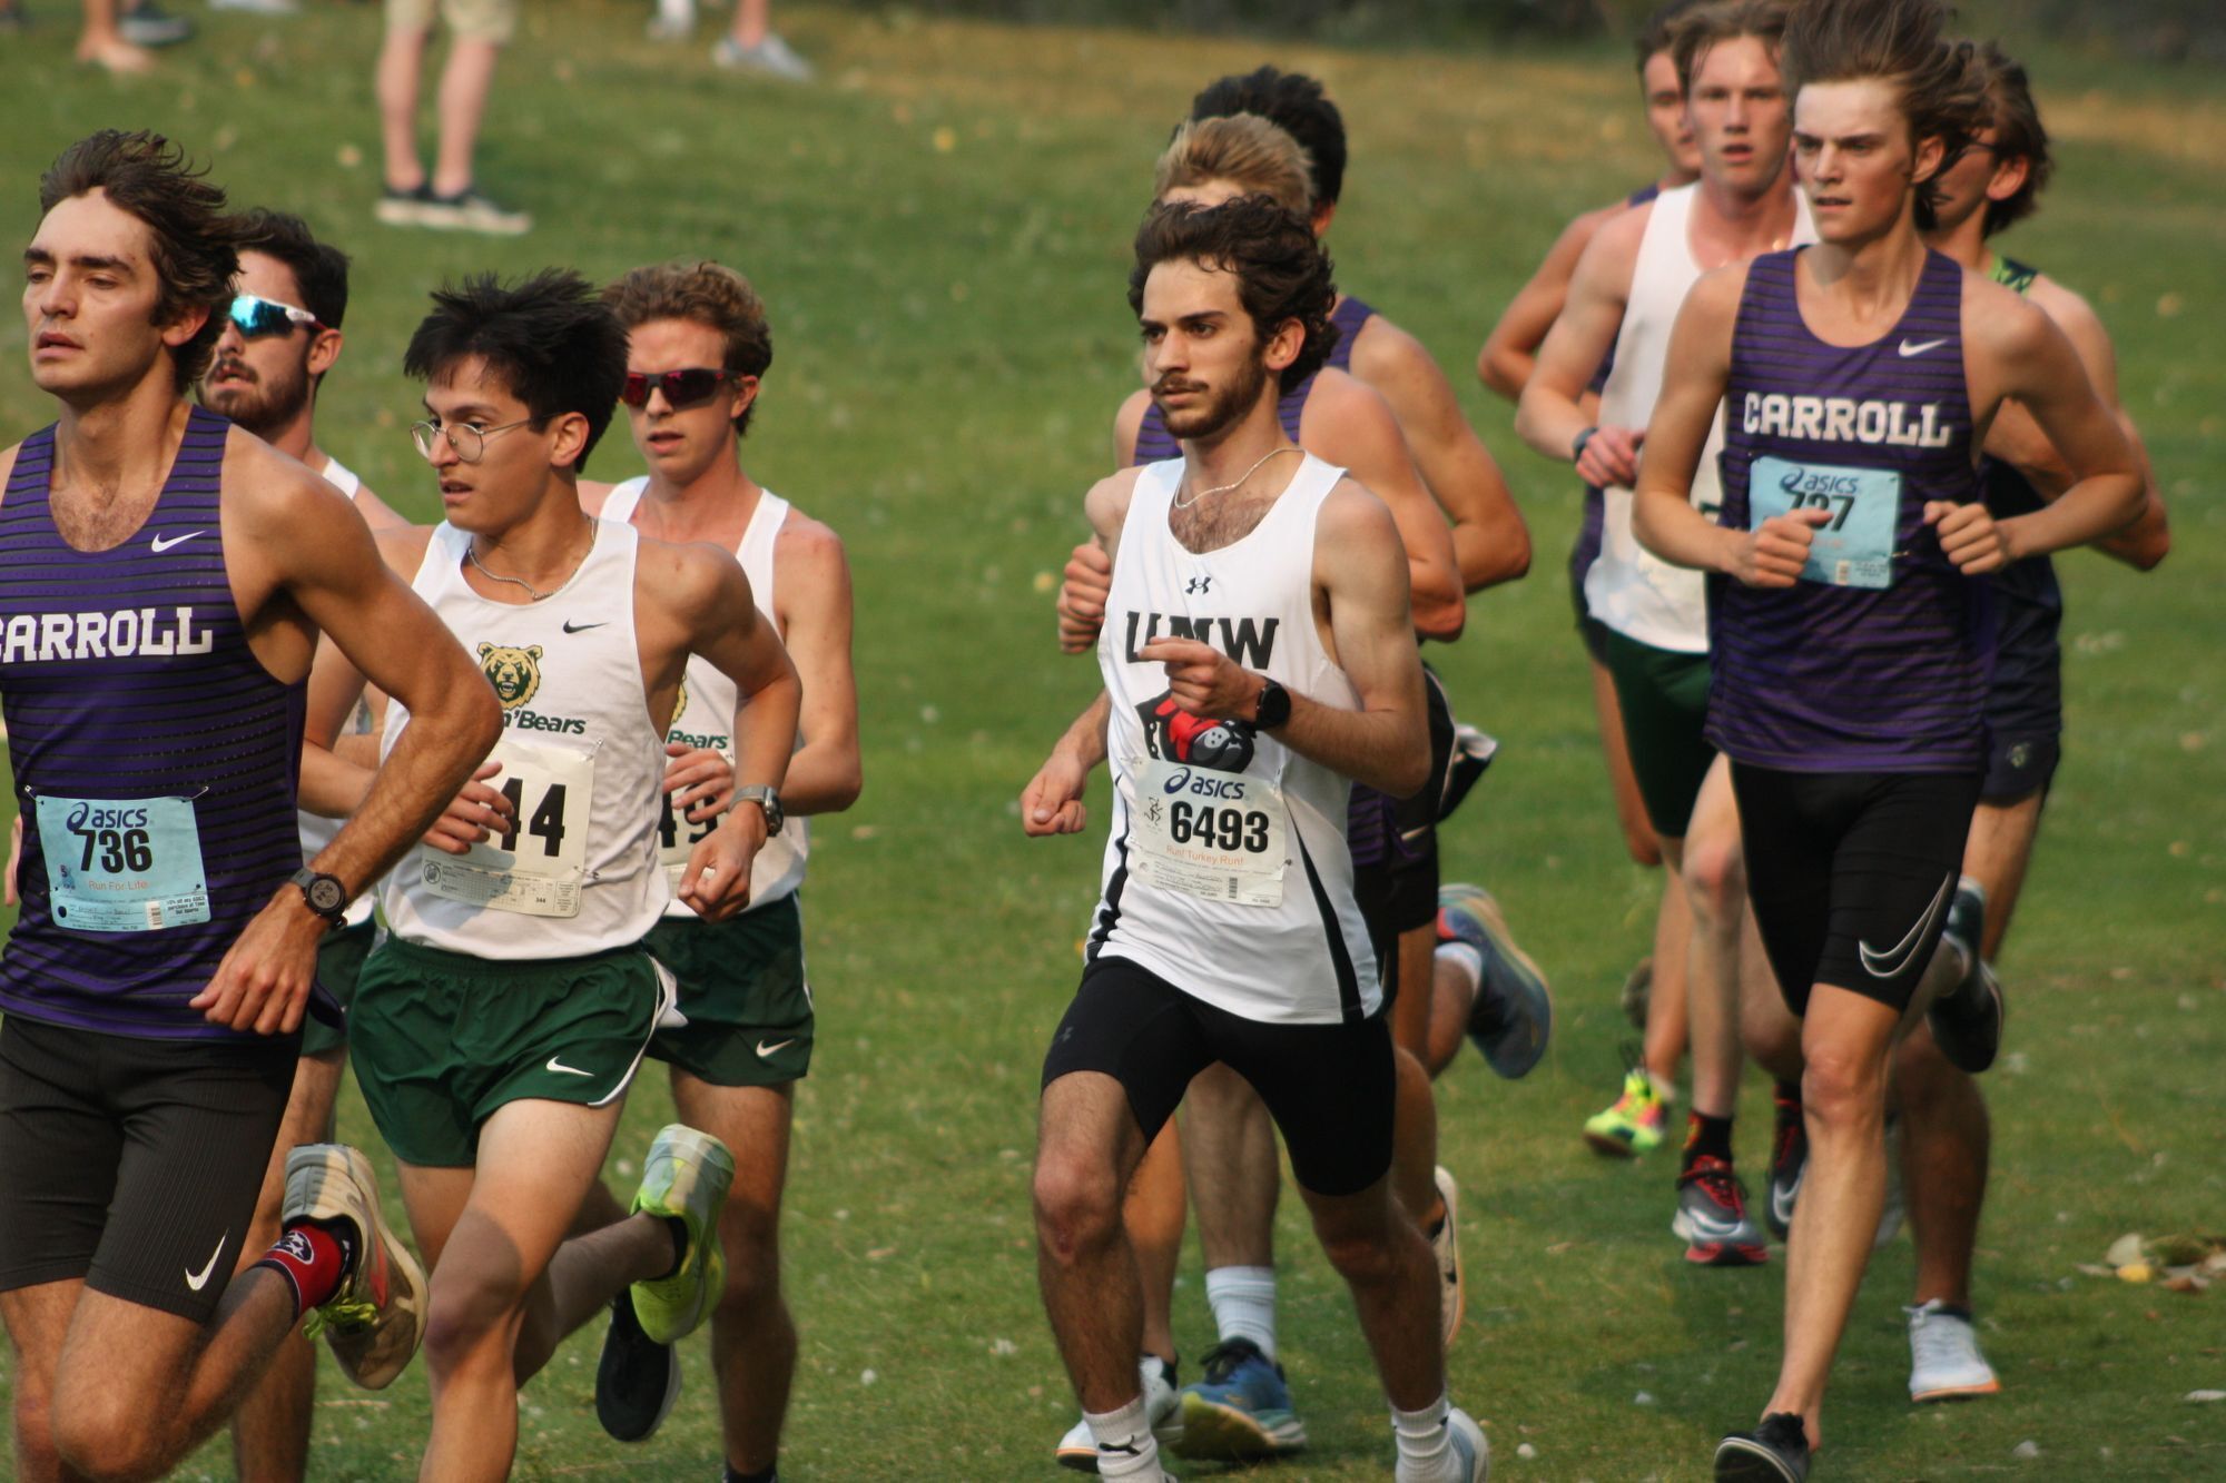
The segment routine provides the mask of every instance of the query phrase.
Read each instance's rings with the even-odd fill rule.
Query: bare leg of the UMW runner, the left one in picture
[[[1140,1396],[1144,1296],[1120,1211],[1144,1131],[1122,1084],[1097,1071],[1044,1087],[1037,1118],[1037,1287],[1082,1410],[1117,1412]]]

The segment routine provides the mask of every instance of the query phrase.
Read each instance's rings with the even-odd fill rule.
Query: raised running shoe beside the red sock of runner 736
[[[309,1142],[285,1156],[280,1225],[314,1220],[356,1229],[356,1265],[303,1329],[325,1334],[341,1372],[363,1389],[394,1383],[425,1338],[425,1269],[378,1209],[372,1160],[341,1142]]]

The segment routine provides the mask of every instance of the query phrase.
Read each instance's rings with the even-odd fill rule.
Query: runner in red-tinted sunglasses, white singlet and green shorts
[[[719,1218],[726,1289],[712,1309],[712,1361],[730,1483],[770,1483],[797,1365],[797,1327],[781,1300],[781,1187],[795,1087],[812,1055],[812,993],[804,975],[799,888],[808,848],[801,815],[857,802],[857,679],[850,672],[850,566],[841,539],[759,485],[741,465],[741,436],[772,365],[772,332],[757,289],[719,263],[637,267],[603,294],[628,332],[626,403],[646,479],[583,490],[605,521],[630,521],[659,541],[732,550],[750,595],[772,621],[804,686],[801,735],[781,784],[781,833],[757,853],[748,909],[706,922],[674,902],[648,949],[679,978],[686,1029],[661,1031],[650,1055],[672,1067],[672,1100],[690,1127],[735,1151],[735,1187]],[[712,664],[688,661],[683,701],[666,753],[732,755],[735,686]],[[668,795],[670,797],[670,795]],[[659,819],[661,860],[674,875],[710,822],[686,826],[672,804]],[[623,1211],[597,1185],[590,1209]],[[597,1414],[619,1441],[641,1441],[679,1392],[679,1358],[652,1343],[630,1303],[612,1303],[597,1374]]]

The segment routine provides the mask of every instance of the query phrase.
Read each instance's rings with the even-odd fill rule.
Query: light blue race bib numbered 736
[[[209,920],[194,799],[36,795],[33,804],[56,926],[158,933]]]

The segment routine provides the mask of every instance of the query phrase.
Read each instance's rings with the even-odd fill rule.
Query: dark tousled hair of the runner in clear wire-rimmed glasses
[[[543,267],[516,283],[474,274],[459,287],[434,289],[432,314],[410,336],[403,370],[439,381],[472,356],[525,403],[536,428],[565,412],[585,416],[588,443],[572,470],[588,468],[626,385],[626,327],[592,283],[568,267]]]

